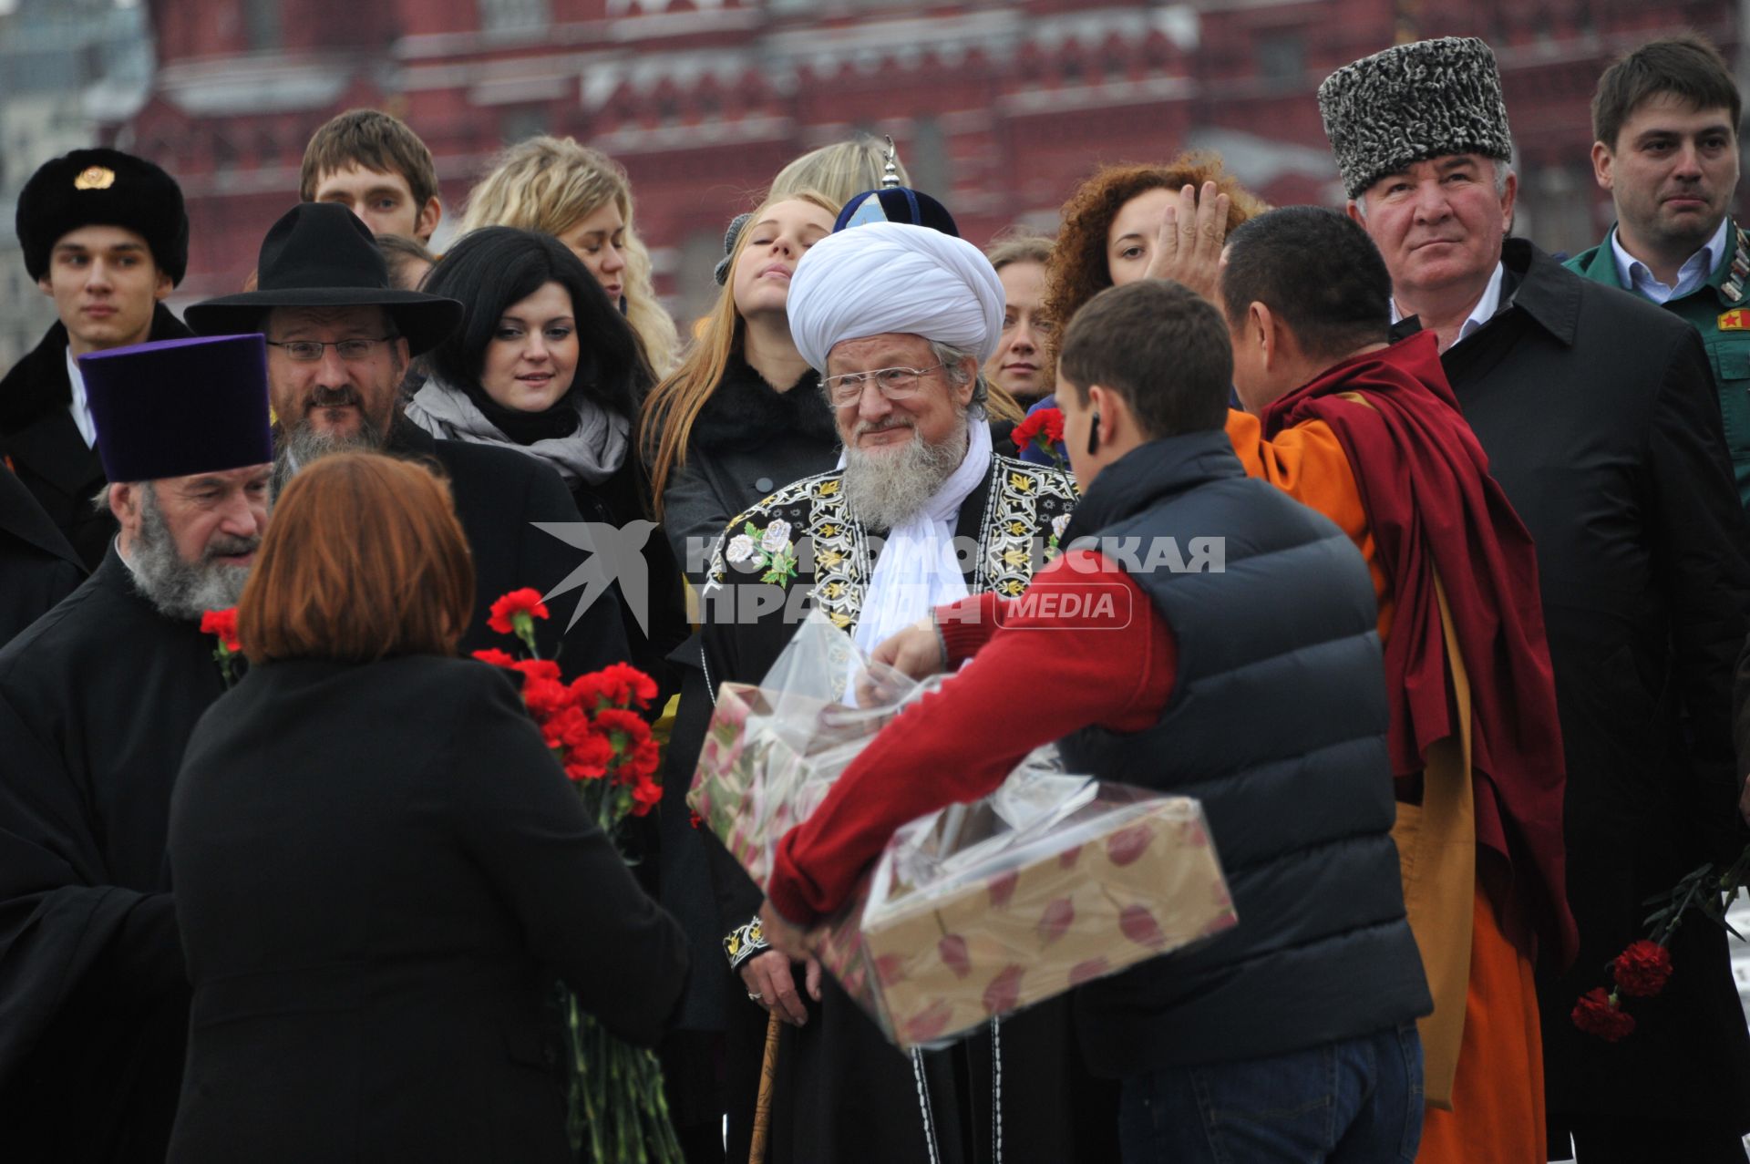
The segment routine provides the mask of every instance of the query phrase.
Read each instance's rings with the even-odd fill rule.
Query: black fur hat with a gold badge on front
[[[189,268],[189,214],[177,180],[133,154],[75,149],[42,163],[18,196],[18,242],[32,278],[49,271],[54,243],[80,226],[121,226],[152,249],[172,284]]]

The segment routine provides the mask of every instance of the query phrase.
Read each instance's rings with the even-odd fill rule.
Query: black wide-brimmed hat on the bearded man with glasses
[[[346,207],[301,201],[261,242],[256,291],[196,303],[184,317],[203,336],[259,331],[276,306],[380,306],[413,355],[438,347],[462,322],[462,305],[388,285],[376,238]]]

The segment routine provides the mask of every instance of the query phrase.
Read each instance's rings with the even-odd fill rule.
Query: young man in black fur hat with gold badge
[[[24,270],[60,320],[0,380],[0,459],[96,569],[116,536],[79,357],[177,340],[189,329],[163,305],[189,261],[182,189],[152,163],[79,149],[44,163],[18,200]]]

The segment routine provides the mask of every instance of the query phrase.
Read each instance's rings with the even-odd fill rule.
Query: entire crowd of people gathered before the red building
[[[570,138],[432,254],[430,152],[341,114],[184,320],[175,179],[44,165],[60,322],[0,380],[0,1153],[565,1160],[564,982],[656,1048],[695,1164],[1743,1162],[1720,929],[1664,935],[1631,1036],[1570,1017],[1750,840],[1740,93],[1694,35],[1614,63],[1615,226],[1566,261],[1512,235],[1484,42],[1318,102],[1342,210],[1192,154],[987,250],[891,145],[814,151],[684,327]],[[523,588],[553,674],[653,681],[628,835],[469,658]],[[807,613],[952,677],[761,886],[686,791]],[[816,926],[1045,744],[1195,796],[1239,922],[903,1054]]]

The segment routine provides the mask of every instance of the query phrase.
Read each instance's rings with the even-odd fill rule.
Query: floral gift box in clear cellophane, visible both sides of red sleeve
[[[763,887],[779,838],[940,683],[868,674],[810,616],[760,686],[721,686],[688,802]],[[1234,924],[1195,800],[1068,775],[1045,747],[984,800],[901,826],[816,952],[910,1048]]]

